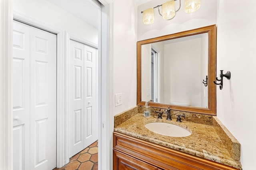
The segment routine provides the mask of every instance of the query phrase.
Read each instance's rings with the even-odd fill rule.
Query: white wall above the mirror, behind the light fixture
[[[152,0],[138,6],[138,41],[216,24],[216,0],[202,0],[201,8],[191,14],[184,12],[184,0],[181,0],[181,8],[172,20],[164,20],[155,8],[154,23],[144,25],[140,12],[164,2],[166,0]],[[178,1],[175,1],[175,7],[178,8]]]

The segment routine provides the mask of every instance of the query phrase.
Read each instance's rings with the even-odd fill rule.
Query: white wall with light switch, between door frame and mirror
[[[113,36],[114,94],[123,94],[122,105],[114,107],[116,115],[136,106],[137,6],[134,0],[114,0]]]

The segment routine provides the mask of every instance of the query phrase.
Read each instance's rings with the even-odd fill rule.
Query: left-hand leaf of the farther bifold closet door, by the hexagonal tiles
[[[84,45],[70,40],[69,52],[69,156],[84,149]]]

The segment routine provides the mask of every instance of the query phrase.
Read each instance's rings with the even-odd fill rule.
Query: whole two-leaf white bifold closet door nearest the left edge
[[[13,169],[56,167],[56,35],[13,23]]]

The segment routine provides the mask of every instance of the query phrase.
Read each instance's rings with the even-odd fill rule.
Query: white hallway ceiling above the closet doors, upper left
[[[48,0],[98,29],[98,9],[91,0]]]

